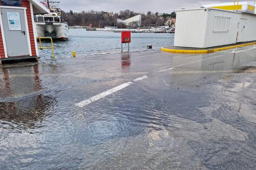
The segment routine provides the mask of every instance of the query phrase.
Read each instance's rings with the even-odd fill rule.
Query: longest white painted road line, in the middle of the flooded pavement
[[[100,94],[98,94],[98,95],[96,95],[94,97],[88,98],[88,99],[86,99],[86,100],[84,100],[84,101],[82,101],[80,103],[76,103],[75,105],[77,107],[84,107],[84,106],[89,105],[92,102],[95,102],[95,101],[97,101],[97,100],[99,100],[101,98],[104,98],[104,97],[106,97],[106,96],[108,96],[108,95],[110,95],[112,93],[115,93],[115,92],[117,92],[119,90],[122,90],[123,88],[125,88],[125,87],[127,87],[127,86],[129,86],[131,84],[133,84],[133,83],[132,82],[127,82],[127,83],[121,84],[121,85],[119,85],[117,87],[114,87],[114,88],[111,88],[110,90],[107,90],[106,92],[103,92],[103,93],[100,93]]]

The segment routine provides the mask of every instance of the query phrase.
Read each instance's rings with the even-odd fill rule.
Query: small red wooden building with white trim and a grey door
[[[38,48],[34,15],[49,13],[37,0],[0,0],[0,64],[35,58]]]

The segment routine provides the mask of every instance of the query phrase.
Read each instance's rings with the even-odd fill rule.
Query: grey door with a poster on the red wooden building
[[[8,57],[29,56],[23,9],[1,8]]]

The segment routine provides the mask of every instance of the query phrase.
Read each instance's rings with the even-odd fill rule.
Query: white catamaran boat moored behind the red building
[[[37,37],[51,37],[67,41],[69,39],[68,24],[63,20],[62,11],[56,5],[60,2],[43,0],[42,3],[50,10],[51,14],[35,15]]]

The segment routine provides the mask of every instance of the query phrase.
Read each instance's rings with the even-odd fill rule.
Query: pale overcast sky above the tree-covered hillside
[[[245,0],[241,2],[243,1]],[[130,9],[134,12],[170,13],[181,8],[197,8],[205,4],[225,2],[234,2],[234,0],[61,0],[61,8],[64,11],[74,12],[96,10],[116,13]],[[254,1],[250,2],[254,3]]]

